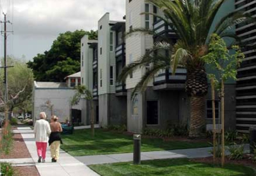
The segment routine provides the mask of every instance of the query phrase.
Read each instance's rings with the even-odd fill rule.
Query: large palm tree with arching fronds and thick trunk
[[[173,44],[172,38],[164,38],[162,42],[156,42],[144,56],[138,58],[124,67],[119,80],[125,79],[134,70],[150,64],[141,81],[136,85],[134,93],[144,91],[147,84],[154,79],[155,74],[162,69],[172,68],[173,73],[178,67],[187,69],[186,92],[190,97],[191,118],[189,125],[189,137],[198,138],[205,128],[205,96],[207,95],[207,74],[205,62],[202,56],[208,53],[209,36],[212,33],[239,40],[230,29],[235,24],[243,22],[247,18],[241,12],[231,12],[218,20],[215,29],[211,31],[213,20],[220,7],[228,0],[147,0],[163,11],[164,17],[155,13],[142,13],[141,15],[154,15],[164,20],[168,26],[175,29],[178,36]],[[148,29],[133,29],[127,33],[127,37],[133,33],[143,32],[152,34]],[[167,51],[169,54],[161,54]],[[133,94],[134,95],[134,94]]]

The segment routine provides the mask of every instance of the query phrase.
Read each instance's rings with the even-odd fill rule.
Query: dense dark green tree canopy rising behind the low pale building
[[[33,70],[36,81],[57,81],[80,71],[81,38],[89,35],[90,40],[97,39],[97,31],[76,30],[61,33],[54,40],[51,49],[37,54],[28,67]]]

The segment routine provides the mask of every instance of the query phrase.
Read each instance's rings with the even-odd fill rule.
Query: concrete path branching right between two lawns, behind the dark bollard
[[[141,161],[154,160],[154,159],[175,159],[175,158],[198,158],[212,156],[209,151],[212,147],[206,148],[191,148],[184,150],[170,150],[170,151],[158,151],[158,152],[141,152]],[[244,152],[248,152],[249,145],[244,147]],[[228,154],[228,151],[225,150]],[[133,154],[109,154],[99,156],[81,156],[76,157],[79,161],[86,165],[90,164],[108,164],[108,163],[121,163],[133,161]]]

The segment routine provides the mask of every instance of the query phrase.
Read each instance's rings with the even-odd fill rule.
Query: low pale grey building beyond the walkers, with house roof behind
[[[81,72],[65,77],[65,83],[34,82],[33,88],[33,118],[39,118],[39,113],[44,111],[47,118],[56,115],[60,122],[70,120],[83,124],[81,119],[81,105],[70,106],[70,99],[74,96],[74,87],[80,84]],[[72,109],[72,111],[70,111]]]

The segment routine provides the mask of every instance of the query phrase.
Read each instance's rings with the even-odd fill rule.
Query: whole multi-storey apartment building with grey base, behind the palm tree
[[[216,19],[234,10],[234,2],[228,1]],[[126,0],[124,21],[113,21],[106,13],[98,22],[98,40],[81,40],[81,82],[93,92],[95,120],[101,127],[127,124],[130,132],[143,132],[145,127],[164,128],[168,124],[189,124],[189,97],[185,92],[186,69],[179,68],[172,75],[171,69],[161,70],[148,84],[143,93],[131,95],[150,65],[134,71],[125,84],[117,83],[122,68],[150,49],[154,42],[168,36],[173,43],[177,40],[175,30],[151,15],[142,12],[163,13],[144,0]],[[213,24],[215,25],[215,24]],[[154,35],[131,35],[124,37],[130,29],[153,29]],[[226,129],[236,128],[236,81],[225,84]],[[218,97],[216,97],[218,99]],[[205,102],[207,128],[211,129],[211,90]],[[82,115],[89,124],[88,102],[84,101]],[[216,100],[216,124],[220,124],[220,101]]]

